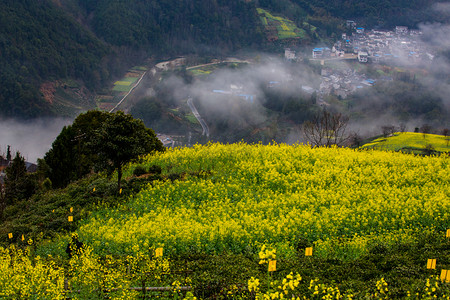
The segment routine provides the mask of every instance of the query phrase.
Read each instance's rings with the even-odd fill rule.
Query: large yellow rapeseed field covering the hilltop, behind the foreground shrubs
[[[175,149],[144,164],[185,174],[183,180],[148,185],[116,209],[93,214],[79,234],[105,254],[148,245],[168,253],[257,253],[269,243],[283,257],[303,238],[314,243],[314,255],[351,258],[370,241],[389,245],[448,228],[448,161],[284,144]]]

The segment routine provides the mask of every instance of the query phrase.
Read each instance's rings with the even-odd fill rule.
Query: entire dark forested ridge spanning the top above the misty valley
[[[96,92],[145,57],[273,50],[267,48],[257,7],[283,15],[300,28],[317,27],[317,39],[337,36],[347,18],[388,28],[440,21],[431,9],[435,2],[1,0],[0,115],[58,114],[39,91],[42,83],[76,79]],[[310,37],[306,40],[311,43]]]

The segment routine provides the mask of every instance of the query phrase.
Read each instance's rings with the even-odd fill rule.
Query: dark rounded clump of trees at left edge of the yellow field
[[[153,130],[123,112],[88,111],[64,127],[46,153],[48,177],[54,187],[64,187],[90,172],[115,169],[140,155],[164,151]]]

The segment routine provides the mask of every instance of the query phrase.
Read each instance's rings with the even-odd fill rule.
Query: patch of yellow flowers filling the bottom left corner
[[[140,299],[133,285],[160,286],[169,272],[162,257],[100,257],[87,247],[61,265],[56,257],[32,257],[12,245],[0,247],[0,299]]]

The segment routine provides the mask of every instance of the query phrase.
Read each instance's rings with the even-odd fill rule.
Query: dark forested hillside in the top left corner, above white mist
[[[91,89],[108,80],[108,46],[62,10],[47,0],[0,3],[1,115],[52,115],[39,92],[46,80],[82,79]]]

